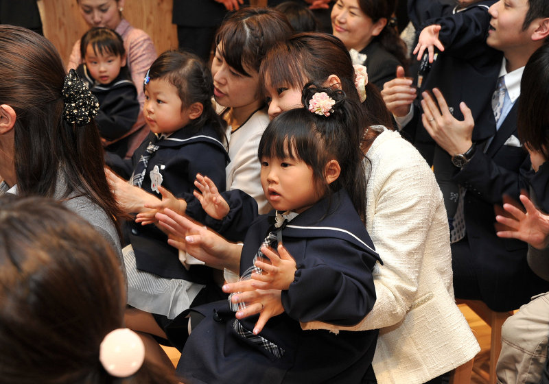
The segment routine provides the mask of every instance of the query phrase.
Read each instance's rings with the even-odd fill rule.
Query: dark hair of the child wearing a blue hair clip
[[[186,51],[165,51],[150,66],[147,73],[150,80],[165,80],[177,88],[182,108],[200,103],[204,107],[202,115],[189,124],[189,128],[198,132],[206,123],[210,123],[224,141],[225,125],[215,113],[213,97],[213,78],[207,65],[194,53]],[[145,88],[146,85],[143,86]]]

